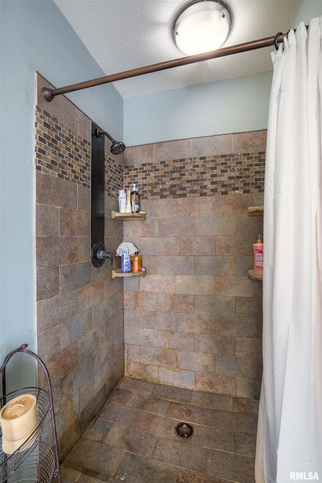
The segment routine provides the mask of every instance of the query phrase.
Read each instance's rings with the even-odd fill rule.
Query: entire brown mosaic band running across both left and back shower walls
[[[36,106],[36,169],[90,188],[91,143]],[[145,199],[264,192],[265,151],[189,157],[123,166],[105,156],[105,191],[132,183]]]

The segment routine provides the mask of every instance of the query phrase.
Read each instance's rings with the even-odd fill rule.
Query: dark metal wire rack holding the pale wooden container
[[[27,350],[27,344],[10,352],[0,368],[2,373],[3,397],[0,398],[0,410],[13,398],[21,394],[33,394],[37,400],[37,411],[39,424],[28,439],[12,454],[2,450],[2,430],[0,427],[0,483],[51,483],[54,476],[58,483],[61,483],[56,423],[54,415],[52,387],[50,376],[44,362],[32,351]],[[24,352],[31,355],[38,361],[45,372],[48,391],[40,387],[24,387],[16,391],[6,392],[6,366],[9,360],[17,352]],[[45,418],[50,413],[54,451],[41,441]]]

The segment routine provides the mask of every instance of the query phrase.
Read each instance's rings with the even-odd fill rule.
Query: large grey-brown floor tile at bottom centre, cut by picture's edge
[[[177,476],[176,466],[126,453],[115,479],[124,483],[176,483]]]

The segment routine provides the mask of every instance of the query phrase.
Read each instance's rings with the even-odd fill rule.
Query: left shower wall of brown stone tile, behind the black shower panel
[[[49,370],[60,458],[104,405],[124,373],[123,282],[91,262],[91,120],[65,97],[48,104],[37,76],[37,353]],[[122,222],[112,221],[123,166],[105,146],[105,246],[115,254]],[[121,156],[121,161],[122,161]],[[39,368],[39,381],[44,376]],[[46,387],[46,386],[45,386]],[[51,423],[46,439],[52,443]]]

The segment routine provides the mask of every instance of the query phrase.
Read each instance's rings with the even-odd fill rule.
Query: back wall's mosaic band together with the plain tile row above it
[[[254,131],[130,147],[124,184],[146,199],[263,193],[265,143]]]

